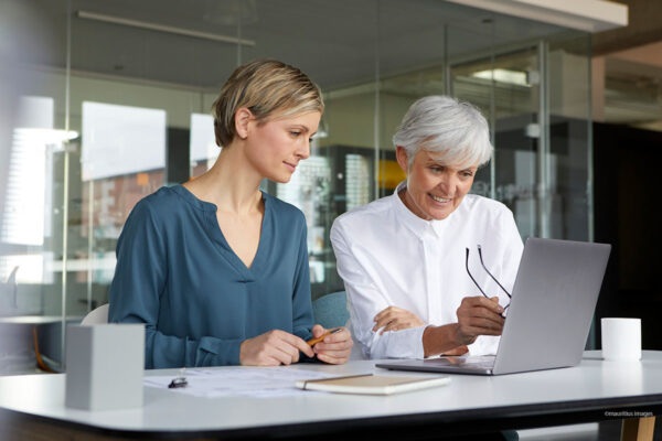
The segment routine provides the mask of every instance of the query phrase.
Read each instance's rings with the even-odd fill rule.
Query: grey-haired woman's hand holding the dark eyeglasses
[[[459,345],[468,345],[479,335],[501,335],[504,319],[499,298],[487,299],[482,295],[466,297],[458,308],[456,338]]]

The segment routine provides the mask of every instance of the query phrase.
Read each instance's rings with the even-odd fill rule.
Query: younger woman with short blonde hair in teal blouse
[[[140,201],[117,245],[109,321],[146,324],[146,367],[289,365],[349,358],[346,330],[310,347],[303,214],[260,192],[310,154],[323,103],[298,68],[256,61],[214,103],[214,166]]]

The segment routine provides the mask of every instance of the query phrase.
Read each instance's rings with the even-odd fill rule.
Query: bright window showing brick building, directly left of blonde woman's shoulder
[[[167,151],[162,109],[96,101],[83,101],[82,109],[81,182],[72,183],[66,268],[70,314],[107,301],[117,239],[136,203],[163,185]]]

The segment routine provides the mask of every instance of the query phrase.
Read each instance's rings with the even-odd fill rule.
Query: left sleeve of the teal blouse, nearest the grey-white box
[[[158,330],[168,279],[168,248],[147,201],[140,201],[117,243],[117,266],[108,293],[108,321],[143,323],[145,367],[238,365],[242,340],[166,335]]]

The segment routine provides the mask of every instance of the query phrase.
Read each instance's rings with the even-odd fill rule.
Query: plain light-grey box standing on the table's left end
[[[143,369],[145,325],[67,326],[67,407],[86,410],[141,407]]]

